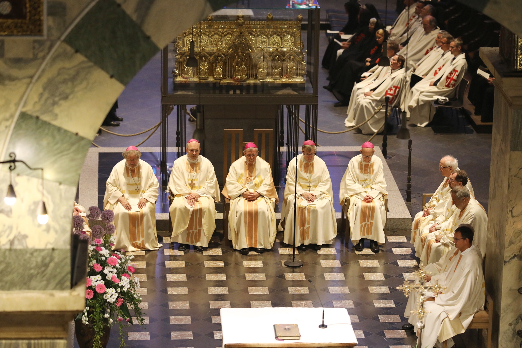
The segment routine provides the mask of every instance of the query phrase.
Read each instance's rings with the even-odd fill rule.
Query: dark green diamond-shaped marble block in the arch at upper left
[[[94,5],[65,42],[123,85],[159,51],[114,0],[100,0]]]

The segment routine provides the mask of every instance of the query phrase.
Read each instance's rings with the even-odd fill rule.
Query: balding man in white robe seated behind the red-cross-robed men
[[[437,20],[432,16],[425,16],[422,19],[422,29],[416,30],[398,54],[408,56],[406,66],[408,69],[415,66],[425,55],[430,53],[435,47],[435,39],[439,29]],[[400,48],[400,47],[399,47]]]

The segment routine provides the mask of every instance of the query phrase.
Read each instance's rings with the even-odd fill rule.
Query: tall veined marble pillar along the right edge
[[[492,345],[518,346],[522,329],[522,77],[510,76],[499,48],[480,57],[495,77],[485,282],[493,298]]]

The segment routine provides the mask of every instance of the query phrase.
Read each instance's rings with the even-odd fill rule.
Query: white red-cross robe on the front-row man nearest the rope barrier
[[[392,71],[369,97],[365,97],[364,94],[359,95],[353,110],[355,124],[360,124],[366,119],[369,119],[377,107],[383,104],[381,111],[376,113],[370,121],[360,127],[362,134],[373,134],[381,129],[384,123],[385,98],[389,97],[388,107],[398,105],[405,80],[405,70],[404,68],[400,68]]]

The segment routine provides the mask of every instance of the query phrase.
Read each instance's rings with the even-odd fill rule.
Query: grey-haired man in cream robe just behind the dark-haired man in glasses
[[[456,209],[450,210],[450,216],[446,217],[447,220],[424,227],[424,233],[421,235],[423,249],[420,256],[424,265],[437,262],[449,249],[454,247],[454,231],[458,225],[463,223],[473,226],[475,231],[473,243],[485,256],[488,215],[480,203],[471,196],[466,186],[452,188],[451,195],[452,204]]]

